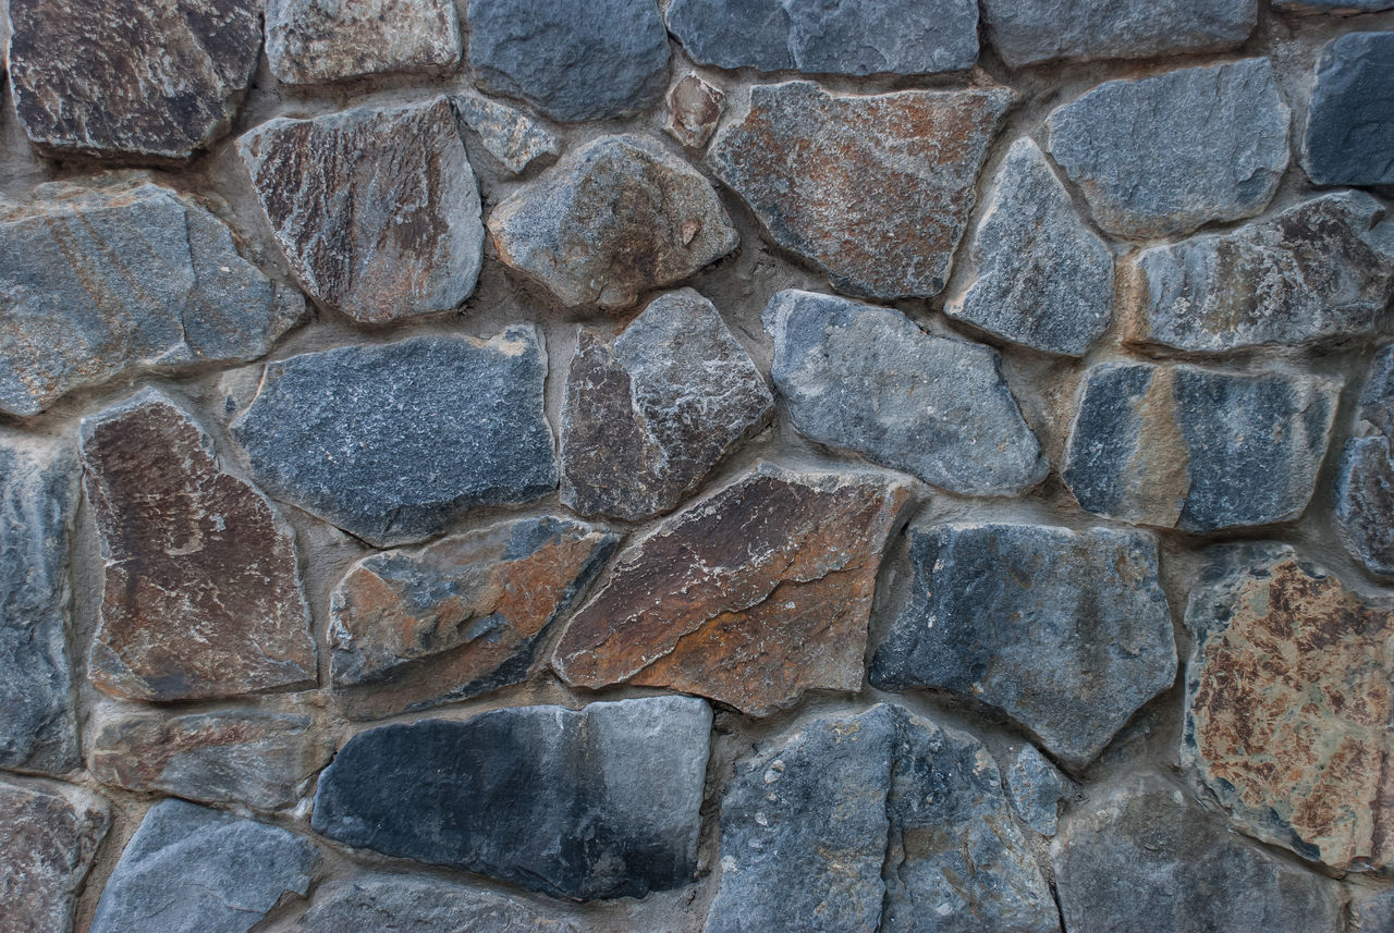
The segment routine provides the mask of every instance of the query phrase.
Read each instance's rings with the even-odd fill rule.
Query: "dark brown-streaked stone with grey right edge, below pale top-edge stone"
[[[480,191],[446,97],[276,117],[237,150],[291,272],[330,308],[386,323],[474,291]]]

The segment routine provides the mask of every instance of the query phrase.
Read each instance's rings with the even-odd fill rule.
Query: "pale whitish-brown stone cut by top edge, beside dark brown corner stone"
[[[461,54],[452,0],[266,0],[266,60],[284,84],[446,68]]]

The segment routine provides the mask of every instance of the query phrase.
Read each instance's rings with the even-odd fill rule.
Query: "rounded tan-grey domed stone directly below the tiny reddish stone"
[[[705,178],[631,135],[570,153],[495,207],[488,224],[499,259],[567,306],[627,308],[740,242]]]

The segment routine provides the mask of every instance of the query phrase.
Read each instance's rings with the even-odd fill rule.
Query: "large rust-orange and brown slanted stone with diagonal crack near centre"
[[[552,667],[574,687],[666,687],[754,716],[856,692],[881,553],[910,500],[881,471],[760,464],[627,547]]]

